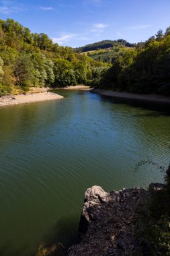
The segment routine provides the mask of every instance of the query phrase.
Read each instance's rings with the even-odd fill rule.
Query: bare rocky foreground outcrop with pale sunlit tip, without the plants
[[[150,185],[155,191],[164,187]],[[67,255],[150,255],[138,231],[138,216],[141,210],[147,214],[144,207],[149,193],[140,187],[110,193],[98,186],[87,189],[79,225],[81,240],[69,248]]]

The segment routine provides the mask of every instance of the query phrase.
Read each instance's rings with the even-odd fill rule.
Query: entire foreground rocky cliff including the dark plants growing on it
[[[167,185],[153,183],[105,192],[93,186],[85,192],[79,241],[40,245],[37,256],[151,256],[170,252],[169,169]]]

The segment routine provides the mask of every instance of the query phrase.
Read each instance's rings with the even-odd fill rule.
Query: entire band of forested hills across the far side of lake
[[[136,45],[103,40],[72,49],[14,20],[0,20],[0,96],[77,84],[169,95],[169,61],[170,27]]]

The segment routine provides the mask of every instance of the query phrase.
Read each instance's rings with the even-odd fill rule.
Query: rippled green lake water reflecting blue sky
[[[0,108],[0,255],[35,255],[67,244],[85,190],[162,182],[170,162],[170,116],[83,91]]]

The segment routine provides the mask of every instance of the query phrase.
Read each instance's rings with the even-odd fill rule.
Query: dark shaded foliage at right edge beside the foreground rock
[[[170,255],[170,166],[166,171],[165,185],[152,186],[146,201],[138,207],[138,234],[142,255]]]

